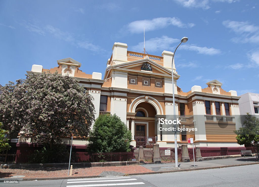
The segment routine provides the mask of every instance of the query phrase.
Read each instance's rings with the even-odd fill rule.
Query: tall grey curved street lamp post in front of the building
[[[186,41],[188,41],[187,37],[183,37],[181,39],[181,43],[176,47],[176,49],[182,44],[185,43]],[[175,49],[175,51],[176,51]],[[174,56],[175,56],[175,52],[173,54],[173,58],[172,58],[172,83],[173,83],[173,111],[174,111],[174,120],[176,119],[176,115],[175,115],[175,86],[174,86],[174,70],[173,70],[173,63],[174,63]],[[177,126],[177,124],[175,125],[175,127]],[[177,153],[177,131],[175,129],[175,167],[178,168],[178,153]]]

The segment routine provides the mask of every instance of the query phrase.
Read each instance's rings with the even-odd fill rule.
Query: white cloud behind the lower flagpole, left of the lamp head
[[[153,52],[158,50],[169,50],[170,45],[179,42],[178,39],[169,38],[168,36],[151,38],[145,41],[145,48],[147,52]],[[142,52],[144,51],[144,42],[139,42],[138,45],[132,47],[133,51]]]

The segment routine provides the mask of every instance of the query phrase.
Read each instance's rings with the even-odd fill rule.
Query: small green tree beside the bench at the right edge
[[[239,145],[243,144],[253,144],[256,147],[257,161],[259,157],[258,146],[259,146],[259,119],[251,114],[247,113],[245,121],[243,122],[244,127],[239,128],[239,130],[234,131],[237,143]]]

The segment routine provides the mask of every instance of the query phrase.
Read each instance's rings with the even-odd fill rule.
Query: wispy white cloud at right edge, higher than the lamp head
[[[234,43],[258,43],[259,26],[249,24],[248,21],[223,21],[222,24],[234,31],[238,37],[232,38]]]

